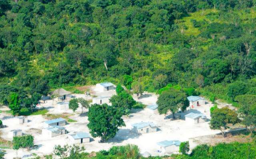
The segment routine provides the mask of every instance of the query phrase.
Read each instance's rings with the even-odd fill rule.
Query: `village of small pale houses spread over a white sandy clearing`
[[[62,88],[52,91],[48,97],[42,98],[37,108],[47,109],[46,115],[56,115],[53,119],[48,119],[45,115],[1,115],[3,124],[6,125],[0,129],[3,139],[12,141],[15,136],[31,134],[34,136],[34,144],[37,145],[30,151],[6,149],[5,157],[14,158],[18,154],[22,158],[29,158],[32,157],[32,153],[44,156],[52,153],[55,145],[65,144],[83,145],[88,153],[107,150],[113,145],[135,144],[144,157],[163,156],[178,153],[179,145],[183,141],[189,141],[192,149],[197,145],[192,140],[193,137],[220,133],[219,130],[212,130],[209,127],[210,108],[213,104],[204,97],[187,97],[189,107],[184,112],[176,113],[174,120],[170,113],[158,113],[158,95],[144,92],[140,98],[133,94],[133,98],[146,107],[132,109],[130,115],[124,115],[122,118],[126,126],[120,127],[114,138],[100,143],[100,137],[93,138],[87,127],[88,109],[82,113],[80,106],[73,112],[68,109],[68,104],[70,99],[77,97],[91,101],[91,104],[111,104],[109,99],[116,94],[115,88],[116,85],[106,82],[91,86],[84,94],[74,94]],[[51,99],[50,95],[54,95],[55,98]],[[7,107],[1,109],[6,110]],[[68,119],[61,117],[63,114],[68,116]]]

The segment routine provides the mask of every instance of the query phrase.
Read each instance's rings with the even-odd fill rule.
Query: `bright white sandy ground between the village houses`
[[[86,88],[88,89],[88,88]],[[91,87],[92,90],[94,90]],[[96,92],[94,91],[94,94],[92,95],[106,95],[106,93],[113,95],[115,94],[114,91],[109,92]],[[85,94],[74,94],[76,97],[83,97],[84,99],[92,99],[91,96],[86,96]],[[136,95],[133,95],[134,99],[136,101],[139,101],[145,105],[150,105],[152,103],[156,103],[158,95],[154,93],[147,93],[145,92],[144,95],[137,99]],[[85,110],[84,113],[81,114],[81,108],[79,107],[78,110],[73,112],[70,109],[66,110],[59,110],[56,106],[56,102],[52,102],[52,100],[46,101],[46,103],[42,103],[40,107],[45,107],[49,110],[49,114],[69,114],[70,119],[74,119],[77,122],[68,123],[68,125],[65,125],[64,127],[70,132],[78,132],[78,131],[84,131],[89,132],[89,129],[87,127],[87,124],[89,123],[88,117],[87,117],[87,111]],[[92,138],[90,143],[82,143],[80,145],[84,145],[86,148],[86,152],[92,152],[92,151],[100,151],[102,149],[109,149],[110,147],[114,145],[126,145],[126,144],[135,144],[138,145],[140,148],[140,152],[144,153],[145,151],[148,151],[153,156],[157,155],[168,155],[164,152],[159,152],[160,147],[157,145],[157,142],[163,141],[163,140],[180,140],[180,141],[190,141],[191,148],[195,147],[196,145],[200,144],[202,136],[202,143],[210,142],[210,138],[212,135],[220,133],[220,131],[217,130],[211,130],[209,128],[208,122],[199,123],[196,125],[191,125],[187,123],[184,120],[184,115],[190,113],[190,112],[200,112],[204,113],[206,117],[210,118],[210,107],[212,106],[211,103],[208,103],[206,105],[202,105],[200,107],[196,107],[194,109],[190,109],[189,111],[186,111],[184,113],[176,113],[176,117],[178,119],[172,120],[172,119],[166,119],[166,116],[168,115],[158,115],[151,113],[148,109],[133,109],[132,113],[129,116],[124,116],[124,122],[126,124],[125,127],[120,127],[119,131],[117,132],[116,136],[112,139],[110,139],[106,143],[98,143],[100,140],[99,137]],[[2,114],[1,114],[2,115]],[[4,123],[4,125],[7,125],[8,127],[0,129],[2,135],[1,137],[7,140],[12,140],[8,133],[12,129],[22,129],[22,132],[25,134],[32,134],[34,136],[34,143],[35,145],[38,145],[37,149],[32,149],[31,151],[22,151],[18,150],[18,156],[23,157],[25,155],[31,155],[32,153],[36,153],[39,156],[43,156],[46,154],[52,153],[54,149],[54,145],[65,145],[69,144],[68,140],[68,134],[59,135],[56,137],[52,137],[50,139],[43,138],[42,128],[44,121],[47,120],[45,116],[42,115],[30,115],[28,116],[28,123],[24,124],[18,124],[15,119],[10,116],[6,117],[6,115],[1,116],[1,119]],[[158,131],[154,133],[148,133],[143,135],[138,135],[131,131],[132,124],[138,123],[138,122],[153,122],[157,127]],[[209,139],[206,137],[208,135]],[[6,155],[5,157],[7,159],[11,159],[13,157],[16,157],[16,151],[13,149],[6,149]],[[175,151],[173,153],[176,153]]]

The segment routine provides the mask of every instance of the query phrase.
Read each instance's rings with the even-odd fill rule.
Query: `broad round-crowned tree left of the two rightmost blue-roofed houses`
[[[174,113],[179,111],[179,109],[184,111],[189,106],[186,93],[173,88],[162,92],[156,103],[158,104],[158,111],[160,114],[166,114],[170,110],[172,112],[173,119],[175,119]]]

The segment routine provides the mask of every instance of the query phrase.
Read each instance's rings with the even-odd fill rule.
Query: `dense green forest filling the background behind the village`
[[[112,81],[256,95],[255,0],[1,0],[0,103]],[[128,84],[124,83],[127,81]]]

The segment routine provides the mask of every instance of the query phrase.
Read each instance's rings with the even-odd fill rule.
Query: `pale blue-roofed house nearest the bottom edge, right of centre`
[[[158,142],[157,145],[160,146],[162,152],[171,153],[179,150],[180,143],[178,140],[164,140]]]

